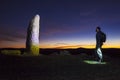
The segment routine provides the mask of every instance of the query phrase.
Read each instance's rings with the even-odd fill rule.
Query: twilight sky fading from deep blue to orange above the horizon
[[[23,48],[29,20],[40,15],[40,48],[94,48],[95,28],[103,47],[120,48],[119,0],[1,0],[0,48]]]

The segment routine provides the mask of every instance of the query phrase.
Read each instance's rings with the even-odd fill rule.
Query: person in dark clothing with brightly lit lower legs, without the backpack
[[[97,26],[96,27],[96,49],[95,49],[95,54],[96,54],[97,60],[100,63],[103,60],[103,55],[102,55],[102,51],[101,51],[102,45],[103,45],[102,31],[101,31],[101,28],[99,26]]]

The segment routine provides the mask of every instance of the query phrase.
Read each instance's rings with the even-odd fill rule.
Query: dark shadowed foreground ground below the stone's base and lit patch
[[[0,56],[0,80],[119,80],[119,59],[86,64],[80,55]]]

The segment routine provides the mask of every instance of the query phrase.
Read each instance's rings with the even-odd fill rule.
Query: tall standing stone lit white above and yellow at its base
[[[27,53],[39,55],[39,15],[33,17],[27,29]]]

